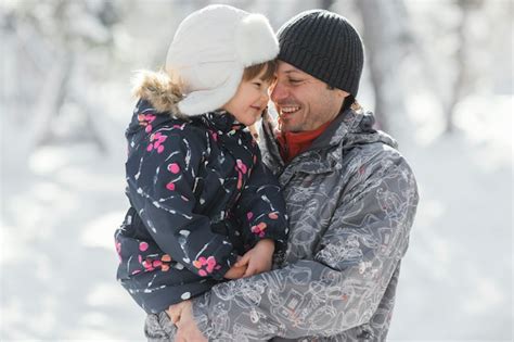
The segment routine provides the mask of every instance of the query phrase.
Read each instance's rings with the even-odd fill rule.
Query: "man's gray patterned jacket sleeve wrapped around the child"
[[[365,179],[359,170],[351,176],[313,259],[218,284],[193,300],[209,340],[327,337],[370,320],[407,250],[417,204],[401,156],[373,165]]]

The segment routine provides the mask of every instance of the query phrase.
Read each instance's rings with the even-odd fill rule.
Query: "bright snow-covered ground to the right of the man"
[[[468,99],[454,135],[401,149],[421,202],[391,340],[512,340],[512,107]]]

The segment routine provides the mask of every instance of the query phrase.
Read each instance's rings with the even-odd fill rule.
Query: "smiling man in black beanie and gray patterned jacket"
[[[284,189],[287,250],[274,270],[185,303],[172,317],[176,341],[384,341],[419,200],[414,176],[355,101],[356,29],[314,10],[278,36],[280,131],[265,122],[261,143]],[[164,314],[145,329],[158,340],[171,327]]]

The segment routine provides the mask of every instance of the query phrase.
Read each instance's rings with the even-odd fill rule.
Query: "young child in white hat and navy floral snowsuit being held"
[[[267,271],[284,245],[279,183],[245,128],[266,110],[278,52],[264,16],[209,5],[180,24],[166,73],[140,74],[115,240],[117,278],[147,313]]]

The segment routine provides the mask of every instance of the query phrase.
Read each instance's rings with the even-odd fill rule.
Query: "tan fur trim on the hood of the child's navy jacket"
[[[165,72],[139,71],[132,78],[132,94],[152,103],[158,113],[169,113],[179,118],[187,118],[178,109],[182,100],[181,87],[172,81]]]

